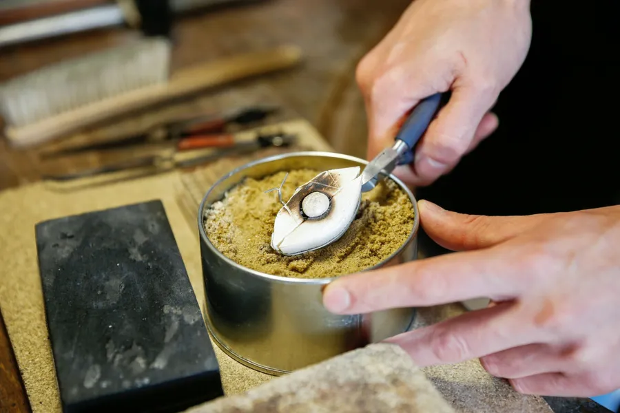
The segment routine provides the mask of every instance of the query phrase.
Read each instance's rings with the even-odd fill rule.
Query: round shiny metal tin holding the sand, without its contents
[[[375,343],[408,330],[414,308],[396,308],[364,315],[334,315],[322,305],[322,288],[335,278],[297,279],[260,273],[225,257],[205,232],[205,210],[245,177],[262,178],[278,171],[310,168],[318,171],[364,167],[365,160],[340,153],[295,152],[250,162],[218,180],[198,210],[200,255],[203,264],[207,328],[218,346],[245,366],[280,375],[318,363],[348,350]],[[417,259],[420,223],[415,211],[406,242],[386,260],[367,270]]]

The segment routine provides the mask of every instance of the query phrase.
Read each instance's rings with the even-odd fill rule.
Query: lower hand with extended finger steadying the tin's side
[[[493,305],[387,341],[428,366],[480,358],[522,393],[595,396],[620,388],[620,206],[523,217],[444,211],[421,201],[424,230],[459,251],[342,277],[333,313]]]

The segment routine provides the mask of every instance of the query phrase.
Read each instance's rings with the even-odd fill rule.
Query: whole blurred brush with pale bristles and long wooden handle
[[[169,76],[171,48],[165,38],[147,38],[13,78],[0,88],[8,142],[32,147],[165,100],[284,70],[301,59],[298,47],[281,45],[198,63]]]

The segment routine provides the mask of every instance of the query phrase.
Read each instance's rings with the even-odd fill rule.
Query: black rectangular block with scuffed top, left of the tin
[[[35,228],[63,412],[179,412],[223,395],[161,201]]]

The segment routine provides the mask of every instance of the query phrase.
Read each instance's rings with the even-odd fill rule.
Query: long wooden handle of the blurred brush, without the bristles
[[[143,87],[99,100],[23,127],[7,127],[5,134],[10,145],[15,148],[38,145],[82,127],[165,100],[186,96],[208,87],[287,69],[298,64],[300,60],[301,52],[298,47],[284,45],[271,50],[248,52],[200,63],[179,70],[163,85]]]

